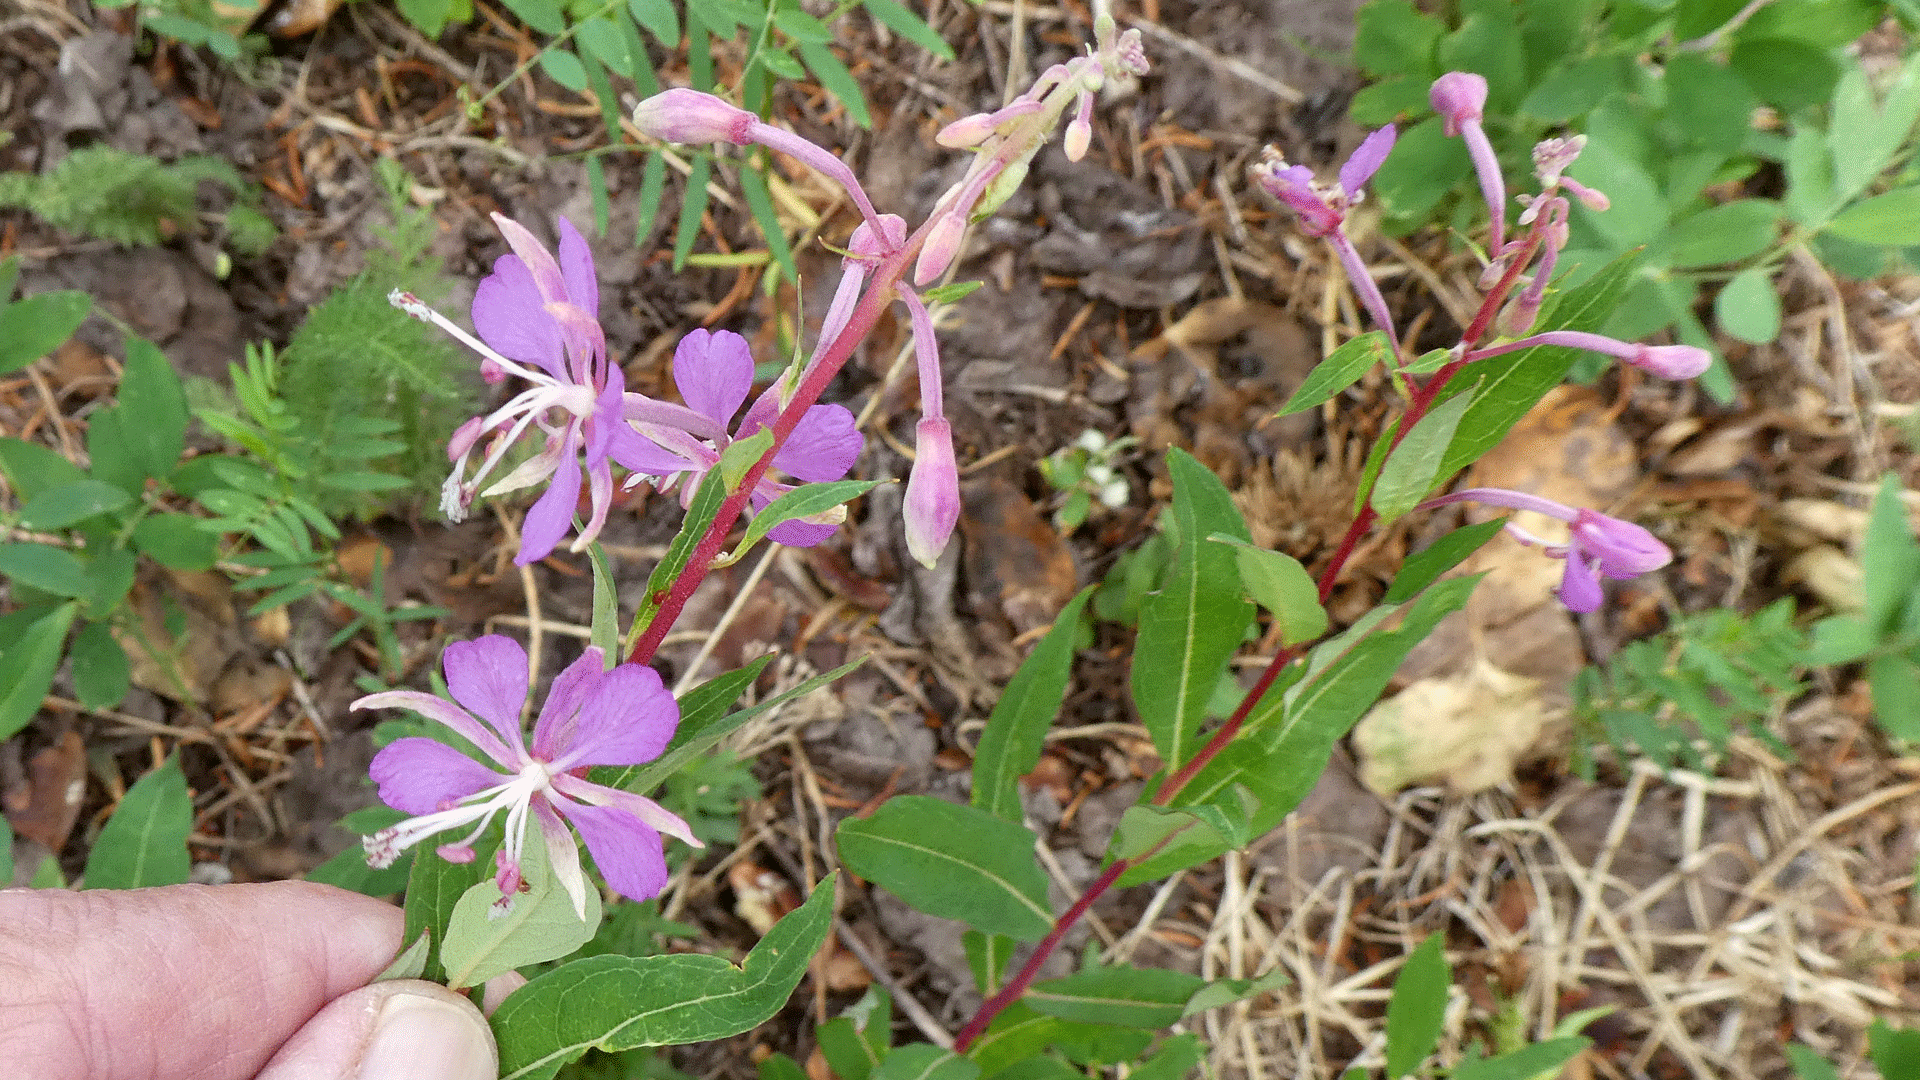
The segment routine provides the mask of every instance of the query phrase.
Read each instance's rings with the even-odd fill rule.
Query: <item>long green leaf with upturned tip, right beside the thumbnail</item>
[[[528,982],[493,1013],[501,1080],[547,1080],[588,1049],[712,1042],[787,1003],[833,928],[833,880],[814,886],[741,967],[708,955],[599,955]]]

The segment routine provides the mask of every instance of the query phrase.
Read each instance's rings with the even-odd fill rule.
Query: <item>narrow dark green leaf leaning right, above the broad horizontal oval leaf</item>
[[[975,807],[1012,822],[1021,819],[1020,776],[1033,773],[1041,761],[1046,728],[1054,724],[1066,701],[1081,611],[1091,596],[1092,586],[1087,586],[1068,601],[993,705],[987,728],[973,749]]]

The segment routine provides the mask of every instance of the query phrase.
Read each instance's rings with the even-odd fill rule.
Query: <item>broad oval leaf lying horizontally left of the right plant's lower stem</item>
[[[939,919],[1039,942],[1054,924],[1033,832],[975,807],[895,796],[835,832],[841,863]]]

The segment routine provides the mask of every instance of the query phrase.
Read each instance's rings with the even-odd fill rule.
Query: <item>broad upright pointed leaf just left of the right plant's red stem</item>
[[[1227,661],[1246,636],[1254,605],[1240,596],[1233,550],[1208,542],[1215,532],[1248,540],[1233,496],[1206,465],[1167,450],[1173,475],[1173,565],[1140,605],[1133,650],[1133,703],[1160,757],[1181,763]]]

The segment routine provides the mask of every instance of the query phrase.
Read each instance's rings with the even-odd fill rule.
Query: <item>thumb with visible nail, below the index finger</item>
[[[486,1017],[432,982],[394,980],[344,994],[290,1038],[259,1080],[495,1080]]]

